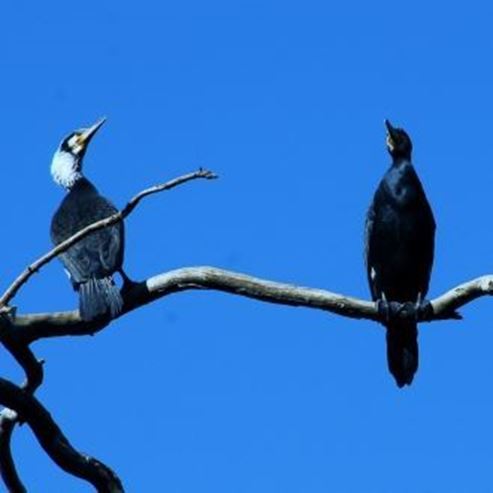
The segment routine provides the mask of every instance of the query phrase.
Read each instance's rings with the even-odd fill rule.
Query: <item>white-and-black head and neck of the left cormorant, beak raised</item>
[[[105,121],[106,118],[100,118],[94,125],[75,130],[62,140],[51,162],[51,175],[56,183],[70,189],[82,176],[87,146]]]

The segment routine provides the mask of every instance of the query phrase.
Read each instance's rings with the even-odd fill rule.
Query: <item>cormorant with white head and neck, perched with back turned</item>
[[[67,192],[51,221],[54,245],[118,211],[82,172],[87,147],[105,121],[106,118],[100,118],[90,127],[71,132],[53,156],[51,175]],[[113,274],[120,273],[124,286],[131,282],[122,267],[124,247],[124,225],[118,222],[89,234],[60,254],[72,286],[79,294],[82,320],[114,318],[121,313],[123,298]]]

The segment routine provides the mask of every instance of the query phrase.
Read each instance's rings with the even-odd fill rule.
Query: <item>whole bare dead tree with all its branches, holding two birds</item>
[[[144,197],[170,190],[191,180],[213,178],[216,178],[214,173],[199,169],[143,190],[118,213],[84,228],[30,264],[0,297],[0,342],[26,375],[21,386],[0,378],[0,404],[4,406],[0,413],[0,473],[9,492],[27,491],[17,474],[10,447],[12,433],[20,422],[27,423],[41,447],[67,473],[89,482],[98,492],[124,491],[122,482],[114,471],[97,459],[78,452],[70,444],[48,410],[34,396],[43,382],[43,362],[36,358],[30,348],[32,343],[44,338],[94,335],[113,320],[84,322],[78,311],[18,314],[12,305],[14,297],[44,265],[92,232],[124,220]],[[135,284],[124,293],[124,308],[120,317],[164,296],[198,289],[222,291],[280,305],[314,308],[343,317],[383,321],[378,307],[370,301],[204,266],[176,269]],[[399,316],[417,316],[419,322],[460,319],[457,312],[459,308],[491,294],[493,275],[486,275],[465,282],[431,300],[429,309],[419,314],[407,310],[403,305]]]

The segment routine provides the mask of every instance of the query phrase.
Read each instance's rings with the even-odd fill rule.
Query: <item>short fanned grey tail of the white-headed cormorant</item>
[[[116,317],[123,308],[118,286],[111,277],[91,278],[79,286],[79,311],[82,320],[89,322],[98,318]]]

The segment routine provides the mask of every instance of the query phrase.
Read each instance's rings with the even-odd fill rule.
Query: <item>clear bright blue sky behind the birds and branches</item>
[[[213,265],[368,297],[363,223],[403,125],[438,223],[430,295],[491,272],[488,2],[4,2],[0,279],[49,246],[59,140],[106,115],[87,176],[118,205],[198,166],[220,174],[143,203],[128,273]],[[21,312],[76,306],[54,262]],[[93,338],[35,346],[39,398],[129,492],[493,491],[493,304],[421,327],[411,388],[384,331],[322,312],[189,292]],[[2,353],[2,375],[20,372]],[[24,426],[31,492],[87,492]]]

